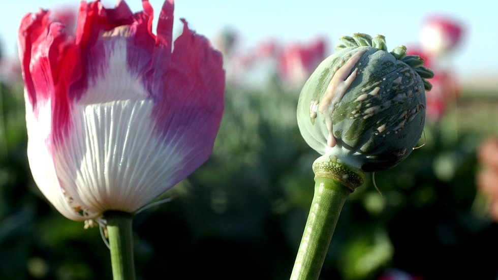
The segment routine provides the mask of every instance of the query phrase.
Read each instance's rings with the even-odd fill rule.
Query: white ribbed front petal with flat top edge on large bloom
[[[75,130],[54,157],[61,185],[84,208],[135,212],[174,185],[182,159],[154,132],[152,108],[151,100],[76,105]]]

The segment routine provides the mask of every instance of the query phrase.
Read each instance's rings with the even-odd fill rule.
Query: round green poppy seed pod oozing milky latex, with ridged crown
[[[425,123],[426,79],[434,73],[384,36],[344,36],[305,83],[297,121],[305,141],[329,159],[366,172],[408,157]]]

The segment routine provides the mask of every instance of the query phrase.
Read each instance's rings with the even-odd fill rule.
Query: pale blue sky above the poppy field
[[[7,2],[7,3],[6,3]],[[132,11],[142,10],[140,0],[127,0]],[[158,12],[163,0],[149,1]],[[102,0],[106,7],[115,1]],[[64,6],[77,9],[79,1],[4,0],[0,9],[0,41],[4,52],[17,56],[17,28],[27,12]],[[420,42],[423,20],[434,14],[450,16],[463,26],[463,40],[448,59],[462,83],[476,79],[498,86],[498,2],[473,1],[363,1],[363,0],[176,0],[175,27],[185,18],[191,29],[211,40],[225,28],[239,34],[244,48],[274,39],[306,43],[325,37],[329,54],[341,35],[366,33],[386,37],[389,50]],[[496,77],[496,78],[495,78]]]

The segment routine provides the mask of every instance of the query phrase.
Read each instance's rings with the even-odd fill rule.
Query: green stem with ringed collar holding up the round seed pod
[[[323,160],[323,159],[322,159]],[[297,252],[291,280],[316,280],[320,276],[344,202],[363,183],[363,172],[336,161],[313,164],[315,194]]]

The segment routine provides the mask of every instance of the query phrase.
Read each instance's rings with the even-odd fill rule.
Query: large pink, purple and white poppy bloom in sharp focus
[[[153,10],[81,2],[76,35],[40,10],[19,28],[28,159],[45,197],[69,219],[135,212],[210,156],[224,108],[222,56],[173,0]]]

